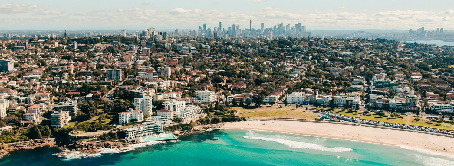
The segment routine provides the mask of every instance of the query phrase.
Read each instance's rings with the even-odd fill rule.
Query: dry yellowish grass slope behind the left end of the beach
[[[263,107],[233,107],[237,115],[244,118],[289,118],[289,119],[315,119],[319,114],[306,111],[302,108],[281,107],[275,105],[264,105]]]

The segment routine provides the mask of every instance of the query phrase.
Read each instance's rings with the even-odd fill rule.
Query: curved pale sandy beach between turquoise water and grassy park
[[[243,121],[224,123],[222,128],[257,129],[323,138],[349,139],[370,143],[399,145],[405,146],[406,148],[415,147],[454,155],[454,138],[409,131],[297,121]]]

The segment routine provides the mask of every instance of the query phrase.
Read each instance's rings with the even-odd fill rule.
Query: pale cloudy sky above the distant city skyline
[[[454,29],[452,0],[0,0],[0,29]]]

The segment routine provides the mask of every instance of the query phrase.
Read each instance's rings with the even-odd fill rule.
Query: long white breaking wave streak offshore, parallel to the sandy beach
[[[280,144],[286,145],[287,147],[290,147],[290,148],[313,149],[313,150],[327,151],[327,152],[346,152],[346,151],[353,150],[348,147],[324,147],[323,145],[314,144],[314,143],[298,142],[298,141],[291,141],[291,140],[278,139],[278,138],[250,137],[250,136],[244,136],[244,138],[260,139],[263,141],[274,141],[274,142],[278,142]]]

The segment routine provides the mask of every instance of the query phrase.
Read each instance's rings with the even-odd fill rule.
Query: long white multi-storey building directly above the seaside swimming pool
[[[149,125],[143,125],[138,127],[132,128],[124,128],[123,129],[126,133],[126,140],[131,140],[133,138],[141,138],[150,135],[156,135],[158,133],[163,133],[163,124],[161,123],[154,123]]]

